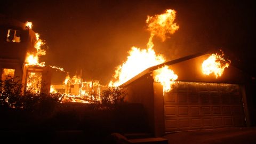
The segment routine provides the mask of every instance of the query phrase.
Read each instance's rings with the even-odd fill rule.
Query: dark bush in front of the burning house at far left
[[[22,85],[19,81],[14,81],[14,78],[0,80],[1,107],[47,113],[55,108],[62,96],[59,93],[46,94],[31,90],[22,93]]]

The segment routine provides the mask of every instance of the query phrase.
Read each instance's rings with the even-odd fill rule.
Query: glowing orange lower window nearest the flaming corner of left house
[[[41,88],[41,82],[42,73],[28,72],[26,89],[31,92],[39,93]]]

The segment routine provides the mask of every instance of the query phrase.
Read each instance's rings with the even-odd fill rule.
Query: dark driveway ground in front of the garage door
[[[224,128],[170,133],[169,143],[256,143],[256,127]]]

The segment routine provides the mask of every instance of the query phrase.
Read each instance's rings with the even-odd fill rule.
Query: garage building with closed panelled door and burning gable
[[[156,136],[173,131],[249,126],[251,103],[246,85],[250,77],[231,65],[219,77],[206,75],[202,63],[210,57],[208,53],[189,55],[142,71],[121,85],[128,91],[125,101],[142,103],[147,124]],[[169,91],[156,82],[155,73],[163,66],[178,74]]]

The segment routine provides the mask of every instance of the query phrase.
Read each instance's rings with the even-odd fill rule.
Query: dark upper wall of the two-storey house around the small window
[[[6,41],[9,29],[21,32],[19,43]],[[35,32],[26,29],[25,23],[0,15],[0,72],[3,68],[15,69],[14,77],[19,82],[24,81],[22,76],[26,54],[36,50],[35,41]]]

